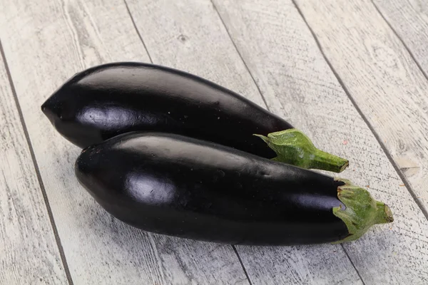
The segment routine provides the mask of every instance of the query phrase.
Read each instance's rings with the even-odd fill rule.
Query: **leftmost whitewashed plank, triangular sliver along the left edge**
[[[67,284],[0,56],[0,284]]]

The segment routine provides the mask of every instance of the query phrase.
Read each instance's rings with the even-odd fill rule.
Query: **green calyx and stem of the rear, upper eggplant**
[[[300,130],[290,129],[255,136],[264,140],[277,154],[272,160],[285,162],[306,169],[342,172],[349,165],[348,160],[317,149]]]

